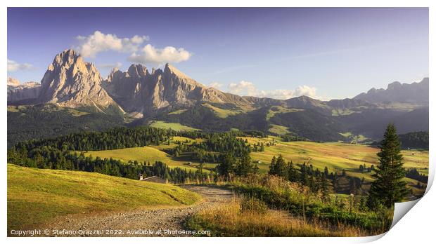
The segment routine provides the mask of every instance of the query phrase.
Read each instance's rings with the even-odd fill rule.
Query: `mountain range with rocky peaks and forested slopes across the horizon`
[[[387,89],[372,88],[343,100],[321,101],[307,96],[277,100],[207,88],[169,64],[151,70],[134,64],[125,72],[113,69],[103,79],[94,64],[85,62],[75,50],[64,50],[53,59],[41,83],[20,84],[8,78],[8,124],[20,124],[11,128],[11,133],[17,133],[29,127],[30,121],[39,123],[35,114],[44,117],[47,115],[40,113],[63,111],[63,116],[68,116],[69,111],[71,119],[65,121],[75,121],[77,114],[89,116],[81,118],[80,126],[74,122],[76,125],[69,127],[77,130],[95,126],[95,119],[103,116],[105,122],[116,117],[115,124],[127,126],[158,121],[206,131],[260,130],[318,141],[376,140],[390,121],[397,124],[400,133],[428,130],[428,82],[428,78],[411,84],[394,82]],[[53,123],[56,121],[50,121]],[[55,132],[35,133],[51,136]],[[58,129],[57,133],[66,132]]]

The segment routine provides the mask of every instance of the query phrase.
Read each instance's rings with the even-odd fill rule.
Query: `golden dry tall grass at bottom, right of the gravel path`
[[[361,229],[322,222],[305,222],[287,211],[270,210],[252,197],[236,197],[188,219],[189,229],[209,230],[212,236],[366,236]]]

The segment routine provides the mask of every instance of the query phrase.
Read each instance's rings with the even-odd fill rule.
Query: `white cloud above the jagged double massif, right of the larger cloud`
[[[189,53],[184,48],[174,48],[167,46],[165,48],[155,48],[154,46],[147,44],[139,52],[132,53],[129,57],[129,61],[139,62],[141,64],[163,64],[165,62],[182,62],[189,60],[192,53]]]

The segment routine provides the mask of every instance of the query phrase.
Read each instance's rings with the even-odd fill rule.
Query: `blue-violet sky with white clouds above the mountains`
[[[8,8],[8,76],[79,50],[103,77],[165,62],[241,95],[354,97],[428,76],[428,8]]]

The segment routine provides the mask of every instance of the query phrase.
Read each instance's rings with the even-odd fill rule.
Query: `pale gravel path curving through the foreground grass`
[[[189,233],[175,233],[174,231],[184,230],[184,221],[189,215],[217,203],[226,203],[232,198],[231,191],[225,189],[195,185],[182,187],[201,194],[204,201],[197,205],[180,208],[137,210],[81,218],[65,218],[49,226],[50,236],[54,236],[51,231],[53,229],[76,231],[75,233],[58,234],[58,236],[191,236]]]

